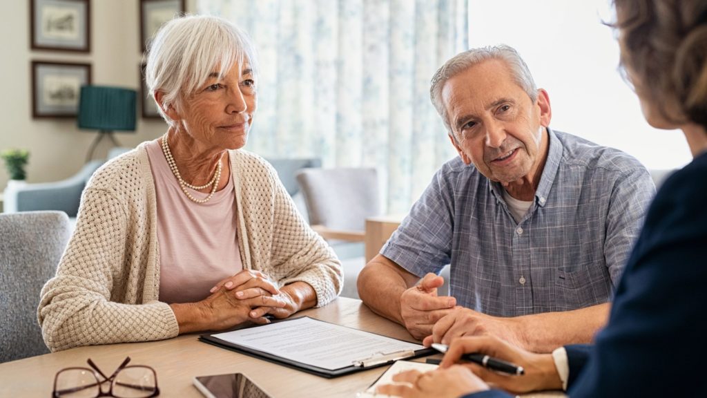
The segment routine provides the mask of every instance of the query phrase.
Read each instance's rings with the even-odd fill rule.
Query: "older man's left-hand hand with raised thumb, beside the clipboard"
[[[450,314],[457,305],[454,297],[438,297],[437,288],[443,284],[444,278],[428,273],[419,285],[405,290],[400,296],[400,316],[415,339],[421,340],[432,334],[436,322]]]

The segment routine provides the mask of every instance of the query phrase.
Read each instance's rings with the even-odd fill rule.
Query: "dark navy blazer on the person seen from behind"
[[[570,397],[707,397],[707,153],[655,195],[595,345],[566,350]]]

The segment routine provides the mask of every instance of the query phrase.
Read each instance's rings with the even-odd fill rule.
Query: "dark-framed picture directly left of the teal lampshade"
[[[90,64],[32,62],[32,117],[75,118],[81,86],[90,84]]]

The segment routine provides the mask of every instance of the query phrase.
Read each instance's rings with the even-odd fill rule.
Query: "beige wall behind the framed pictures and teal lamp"
[[[195,9],[195,1],[187,1],[187,11]],[[88,62],[93,84],[139,89],[139,0],[90,0],[88,54],[30,50],[29,3],[3,1],[1,8],[5,18],[0,23],[0,150],[29,149],[28,181],[57,181],[81,169],[98,132],[78,130],[74,118],[32,118],[30,62]],[[135,146],[163,132],[163,121],[139,117],[136,133],[115,137],[122,146]],[[100,156],[109,147],[104,141],[97,151]],[[6,169],[0,166],[0,191],[7,180]]]

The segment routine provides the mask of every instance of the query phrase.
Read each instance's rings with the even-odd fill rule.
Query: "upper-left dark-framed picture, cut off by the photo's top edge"
[[[30,0],[33,50],[90,52],[89,0]]]

